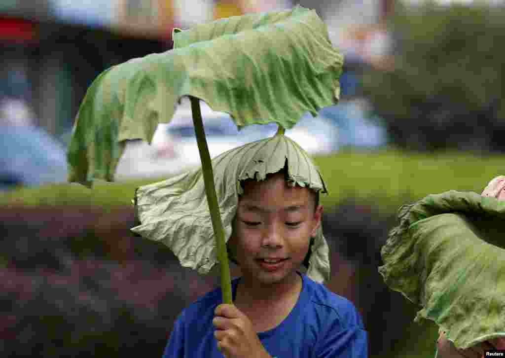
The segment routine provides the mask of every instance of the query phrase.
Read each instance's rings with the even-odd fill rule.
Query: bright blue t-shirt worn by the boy
[[[300,296],[277,327],[258,333],[275,358],[366,358],[367,332],[354,304],[306,275]],[[232,281],[235,297],[237,283]],[[163,358],[223,358],[214,337],[214,310],[222,303],[221,289],[185,308],[174,323]]]

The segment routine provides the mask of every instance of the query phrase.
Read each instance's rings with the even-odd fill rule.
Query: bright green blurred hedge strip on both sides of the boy
[[[503,155],[464,152],[423,154],[395,149],[339,151],[315,157],[329,194],[321,202],[332,206],[346,197],[377,203],[386,212],[405,202],[450,189],[481,192],[493,177],[503,174]],[[53,184],[19,188],[0,196],[0,205],[93,204],[102,207],[127,205],[139,185],[163,180],[151,178],[126,182],[97,182],[92,190],[79,184]]]

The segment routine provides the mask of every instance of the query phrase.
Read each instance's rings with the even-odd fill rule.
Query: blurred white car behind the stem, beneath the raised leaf
[[[201,116],[211,158],[245,143],[273,136],[277,124],[250,125],[240,131],[227,113],[213,111],[200,101]],[[337,127],[325,117],[307,113],[285,133],[309,154],[336,149]],[[116,180],[172,175],[200,165],[189,99],[184,98],[172,121],[160,124],[151,145],[129,141],[118,163]]]

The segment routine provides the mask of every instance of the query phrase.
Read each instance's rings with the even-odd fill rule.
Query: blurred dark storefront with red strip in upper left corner
[[[34,124],[65,140],[91,81],[171,48],[173,24],[171,1],[3,1],[0,96],[25,100]]]

